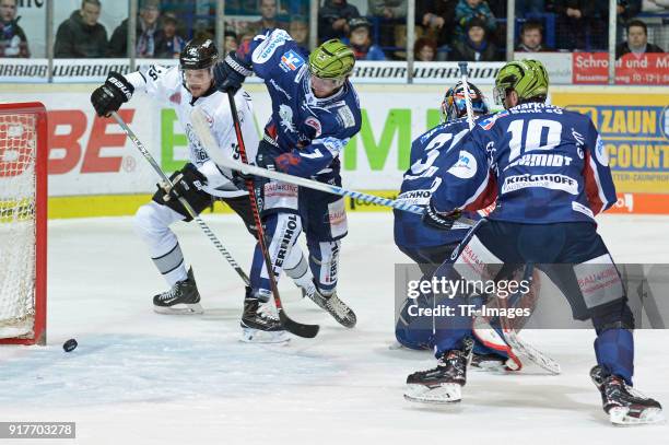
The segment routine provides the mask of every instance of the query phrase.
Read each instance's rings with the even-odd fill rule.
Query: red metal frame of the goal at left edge
[[[47,112],[39,102],[0,104],[0,115],[34,114],[36,125],[35,154],[35,320],[31,338],[0,339],[0,344],[46,344],[47,312]]]

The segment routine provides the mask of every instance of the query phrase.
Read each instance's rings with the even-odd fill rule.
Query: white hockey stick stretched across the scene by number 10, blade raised
[[[202,127],[203,125],[207,125],[207,120],[203,116],[201,116],[201,113],[202,112],[196,107],[190,115],[190,120],[192,121],[192,126],[200,140],[202,140],[202,134],[200,134],[201,132],[204,132],[204,130],[209,132],[209,126]],[[199,125],[196,125],[196,121],[198,121]],[[281,180],[284,183],[294,184],[296,186],[325,191],[327,194],[360,199],[363,202],[371,202],[378,206],[391,207],[394,209],[402,210],[410,213],[425,213],[425,209],[421,206],[407,204],[397,200],[382,198],[376,195],[368,195],[363,194],[362,191],[349,190],[330,184],[319,183],[317,180],[312,180],[300,176],[287,175],[281,172],[273,172],[266,168],[260,168],[256,165],[244,164],[239,161],[235,161],[232,157],[226,156],[220,150],[215,150],[215,141],[212,140],[211,143],[211,150],[206,147],[207,154],[209,154],[209,157],[211,157],[213,162],[225,168],[232,168],[237,172],[242,172],[246,175],[254,175],[268,179]],[[476,224],[476,221],[470,220],[468,218],[460,218],[458,222],[467,225]]]

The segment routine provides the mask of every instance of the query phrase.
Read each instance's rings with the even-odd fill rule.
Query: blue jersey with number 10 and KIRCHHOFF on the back
[[[457,159],[456,159],[457,157]],[[615,202],[601,138],[587,116],[528,103],[489,116],[453,149],[453,166],[433,194],[438,211],[476,208],[491,189],[491,220],[594,222]]]

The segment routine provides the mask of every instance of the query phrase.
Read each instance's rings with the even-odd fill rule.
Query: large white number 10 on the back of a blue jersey
[[[525,119],[518,119],[508,125],[506,131],[512,133],[512,139],[508,142],[508,162],[518,157],[521,151],[527,153],[535,150],[551,150],[560,144],[562,124],[559,121],[548,119],[532,119],[528,121],[524,143],[523,131],[525,130]],[[541,138],[543,134],[547,134],[547,137],[545,144],[542,145]]]

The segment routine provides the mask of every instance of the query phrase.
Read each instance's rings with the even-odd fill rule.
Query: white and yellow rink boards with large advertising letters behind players
[[[111,120],[90,105],[92,84],[0,86],[0,102],[40,101],[49,113],[49,216],[132,214],[155,187],[154,172]],[[357,85],[361,132],[342,152],[351,189],[392,197],[409,167],[411,141],[439,121],[438,85]],[[248,85],[258,131],[270,114],[263,85]],[[483,92],[492,101],[490,86]],[[622,213],[669,214],[669,87],[555,86],[552,103],[590,116],[613,171]],[[138,94],[122,108],[166,172],[183,165],[186,134],[168,104]],[[349,201],[351,211],[387,210]],[[222,210],[224,211],[224,210]]]

